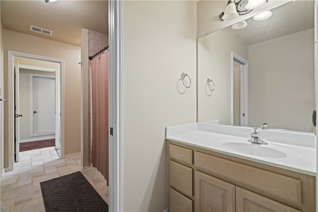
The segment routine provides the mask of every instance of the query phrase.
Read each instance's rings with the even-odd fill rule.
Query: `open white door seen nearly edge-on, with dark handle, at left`
[[[19,126],[20,126],[20,114],[19,110],[19,61],[14,65],[14,161],[19,161]]]

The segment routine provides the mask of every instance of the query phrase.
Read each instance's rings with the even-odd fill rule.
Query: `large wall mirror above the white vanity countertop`
[[[315,2],[271,12],[198,38],[198,121],[314,132]]]

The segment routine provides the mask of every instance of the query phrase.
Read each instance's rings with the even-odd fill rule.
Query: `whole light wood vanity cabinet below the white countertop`
[[[168,141],[170,212],[314,212],[316,177]]]

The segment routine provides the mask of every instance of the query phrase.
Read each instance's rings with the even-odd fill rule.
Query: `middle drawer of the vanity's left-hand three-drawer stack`
[[[192,197],[192,169],[169,160],[169,186]]]

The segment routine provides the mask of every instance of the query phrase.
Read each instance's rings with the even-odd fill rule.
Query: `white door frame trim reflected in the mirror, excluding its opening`
[[[234,124],[234,62],[240,64],[240,114],[241,126],[248,126],[248,61],[231,52],[231,124]]]

